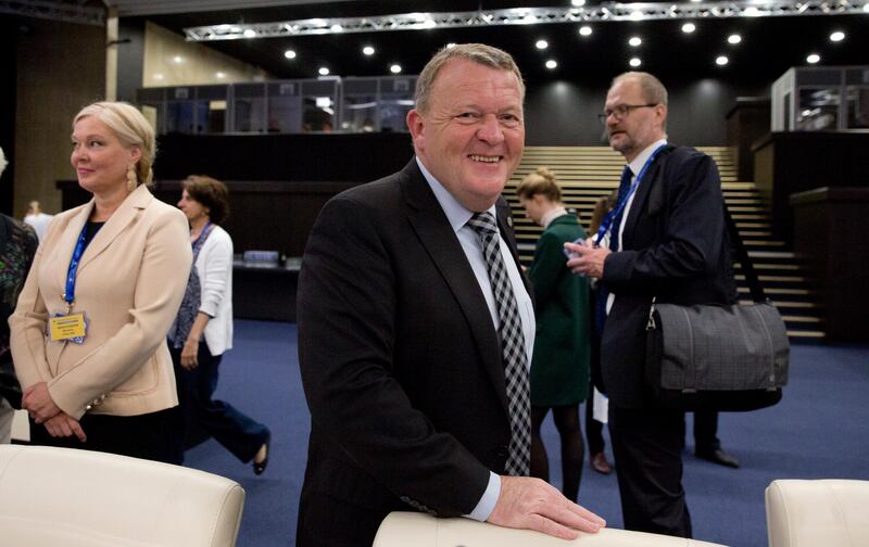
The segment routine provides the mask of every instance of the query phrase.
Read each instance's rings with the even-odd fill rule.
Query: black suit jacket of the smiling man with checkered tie
[[[517,260],[503,199],[498,213]],[[323,208],[298,321],[312,420],[299,545],[370,545],[391,510],[470,512],[507,457],[504,366],[479,284],[415,160]]]

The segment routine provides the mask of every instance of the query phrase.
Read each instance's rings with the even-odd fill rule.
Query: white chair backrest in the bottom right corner
[[[769,547],[869,547],[869,481],[772,481],[766,506]]]

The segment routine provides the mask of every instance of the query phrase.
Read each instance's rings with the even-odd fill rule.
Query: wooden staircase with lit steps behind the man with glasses
[[[736,168],[726,147],[698,147],[718,164],[721,187],[730,214],[769,300],[779,308],[792,342],[817,342],[824,338],[815,281],[785,243],[772,238],[768,209],[754,182],[736,180]],[[541,228],[525,217],[516,198],[516,185],[529,173],[545,166],[555,171],[562,200],[577,209],[588,230],[594,203],[618,187],[625,166],[620,154],[607,147],[527,147],[507,183],[504,195],[513,207],[519,256],[529,264]],[[735,264],[740,300],[750,302],[742,265]]]

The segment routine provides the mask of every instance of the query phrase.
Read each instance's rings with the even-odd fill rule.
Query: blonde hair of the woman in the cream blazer
[[[81,109],[73,119],[73,129],[79,119],[93,116],[105,124],[127,148],[138,147],[142,152],[136,164],[137,186],[150,185],[154,177],[151,166],[156,153],[154,128],[135,106],[125,102],[101,101]]]

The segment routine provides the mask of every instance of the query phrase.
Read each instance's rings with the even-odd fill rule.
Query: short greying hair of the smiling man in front
[[[453,59],[464,59],[491,68],[511,71],[519,80],[519,93],[522,102],[525,101],[522,75],[509,53],[484,43],[458,43],[441,48],[416,78],[416,110],[421,113],[428,112],[431,106],[431,88],[434,79],[441,68]]]

